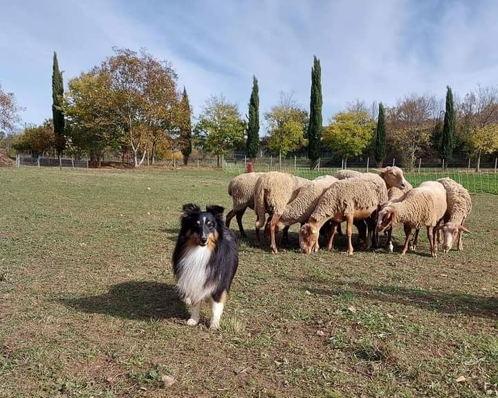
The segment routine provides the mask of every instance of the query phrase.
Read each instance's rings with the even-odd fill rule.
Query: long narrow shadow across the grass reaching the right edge
[[[316,281],[315,281],[316,282]],[[330,288],[302,288],[320,296],[340,296],[352,293],[369,300],[409,305],[443,314],[465,314],[483,318],[498,318],[498,298],[470,293],[427,291],[394,285],[377,285],[355,282],[347,285],[333,283]]]

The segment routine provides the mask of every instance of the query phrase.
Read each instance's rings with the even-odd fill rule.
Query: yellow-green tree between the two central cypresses
[[[268,150],[279,155],[282,167],[282,155],[296,150],[304,142],[304,131],[308,123],[308,114],[293,100],[292,94],[281,93],[279,105],[265,114],[268,125]]]

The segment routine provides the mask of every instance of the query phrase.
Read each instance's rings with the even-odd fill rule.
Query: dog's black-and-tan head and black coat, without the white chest
[[[189,245],[199,244],[212,250],[204,286],[212,286],[211,296],[216,302],[219,302],[224,291],[230,291],[239,265],[237,237],[226,228],[223,210],[223,207],[213,205],[206,206],[203,212],[193,203],[183,205],[180,233],[173,253],[173,272],[178,279],[182,271],[179,263]]]

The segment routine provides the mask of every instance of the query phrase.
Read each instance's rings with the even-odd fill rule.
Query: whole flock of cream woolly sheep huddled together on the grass
[[[328,235],[327,248],[333,248],[340,223],[347,223],[347,253],[353,254],[351,242],[353,224],[358,228],[358,244],[365,249],[378,244],[378,233],[387,235],[387,249],[392,253],[393,226],[403,223],[405,243],[401,254],[414,250],[418,231],[425,226],[432,257],[437,256],[438,241],[443,235],[446,253],[458,240],[463,250],[462,233],[469,231],[463,223],[472,210],[468,191],[459,183],[443,178],[426,181],[412,188],[405,180],[403,170],[388,167],[362,173],[339,170],[332,176],[310,181],[282,172],[248,172],[234,177],[228,184],[233,208],[228,212],[226,225],[236,217],[242,237],[242,216],[247,208],[255,210],[255,246],[259,246],[259,233],[265,226],[270,247],[277,253],[275,234],[283,230],[282,240],[288,240],[288,228],[301,224],[299,246],[304,253],[319,248],[320,235]],[[269,214],[266,220],[266,214]],[[410,235],[415,229],[414,239]]]

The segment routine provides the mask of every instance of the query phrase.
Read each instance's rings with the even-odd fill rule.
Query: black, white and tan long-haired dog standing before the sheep
[[[181,228],[173,253],[173,272],[181,300],[192,305],[187,325],[199,323],[201,304],[210,298],[212,329],[219,328],[221,313],[239,265],[237,238],[225,227],[221,206],[201,211],[183,205]]]

